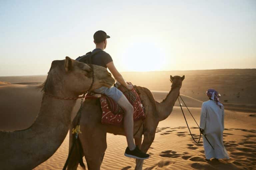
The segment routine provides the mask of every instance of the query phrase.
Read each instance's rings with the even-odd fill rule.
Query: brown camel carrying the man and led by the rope
[[[185,78],[184,75],[182,77],[170,77],[170,81],[172,82],[171,91],[161,103],[155,101],[149,89],[135,86],[145,107],[146,119],[144,121],[140,120],[134,122],[134,138],[136,139],[135,144],[145,153],[148,151],[154,140],[159,121],[165,120],[171,114],[173,106],[180,94],[182,81]],[[99,99],[86,99],[83,105],[80,122],[82,133],[79,134],[82,148],[79,149],[81,150],[82,155],[85,156],[89,170],[100,169],[107,148],[106,133],[125,135],[123,127],[101,124],[101,115],[102,111]],[[74,127],[75,125],[72,126]],[[70,133],[70,147],[73,142],[71,135],[72,134]],[[144,139],[141,145],[142,135],[144,135]],[[68,169],[77,169],[79,155],[78,149],[73,149]],[[142,165],[143,160],[136,160],[135,169],[142,170]]]

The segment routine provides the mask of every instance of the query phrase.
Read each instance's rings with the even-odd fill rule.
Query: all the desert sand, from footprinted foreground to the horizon
[[[224,99],[228,101],[224,102],[224,106],[229,104],[229,110],[225,110],[224,145],[231,159],[211,160],[210,162],[205,160],[203,144],[202,142],[199,144],[193,142],[179,104],[176,102],[171,115],[158,125],[155,140],[148,151],[151,156],[144,161],[143,169],[256,169],[255,69],[245,69],[240,70],[240,72],[239,70],[231,70],[229,73],[225,73],[225,71],[227,70],[219,71],[220,79],[211,83],[208,82],[210,79],[207,75],[214,77],[214,74],[217,74],[216,71],[198,71],[193,75],[192,73],[188,74],[188,76],[186,71],[176,71],[171,74],[181,76],[185,74],[181,96],[198,123],[200,121],[200,107],[202,102],[207,100],[207,97],[203,96],[207,88],[215,88],[222,94],[226,94],[227,97]],[[149,77],[145,74],[149,73],[141,73],[136,75],[138,77],[132,78],[128,73],[124,73],[126,80],[136,85],[148,87],[152,90],[155,99],[161,102],[170,90],[170,72],[161,72],[161,75],[160,73],[151,73],[158,77],[158,81],[152,80],[155,78],[154,76],[151,76],[151,80],[149,80]],[[196,77],[206,82],[200,83],[202,80],[196,82]],[[237,78],[239,80],[235,80]],[[0,77],[0,81],[2,81],[0,83],[1,130],[24,129],[34,122],[39,113],[42,98],[42,92],[38,88],[38,84],[43,82],[44,79],[45,76]],[[146,79],[147,81],[145,81]],[[225,83],[220,83],[222,79],[226,79]],[[243,84],[243,82],[246,82],[246,84]],[[159,87],[156,86],[157,84]],[[229,86],[232,88],[229,89]],[[239,88],[240,97],[236,97],[237,95],[233,94]],[[194,93],[191,92],[191,89],[194,89]],[[254,91],[252,92],[252,90]],[[247,99],[246,95],[249,96],[250,100]],[[224,99],[222,98],[222,100]],[[72,117],[79,108],[79,102],[80,100],[77,101],[74,107]],[[198,138],[199,130],[196,128],[196,124],[185,108],[184,111],[193,135]],[[62,169],[68,155],[68,138],[69,134],[55,154],[35,169]],[[108,147],[101,166],[102,170],[134,169],[135,160],[123,155],[126,148],[124,136],[107,134],[107,144]],[[84,163],[86,164],[85,159]],[[79,166],[78,169],[81,169],[81,167]]]

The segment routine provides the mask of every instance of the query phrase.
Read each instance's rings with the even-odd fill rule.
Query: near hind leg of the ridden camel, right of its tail
[[[90,128],[89,133],[79,134],[88,170],[100,170],[107,148],[107,133],[99,127]],[[85,130],[84,130],[85,131]]]

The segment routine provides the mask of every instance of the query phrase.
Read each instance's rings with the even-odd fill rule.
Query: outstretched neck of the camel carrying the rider
[[[172,112],[173,106],[180,94],[180,87],[172,87],[166,98],[161,102],[156,102],[156,109],[159,120],[165,120]]]

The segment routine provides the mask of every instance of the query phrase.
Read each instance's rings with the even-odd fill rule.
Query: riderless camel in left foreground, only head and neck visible
[[[90,67],[69,57],[52,62],[42,84],[44,95],[35,122],[27,129],[0,131],[1,169],[33,169],[54,154],[68,133],[76,100],[60,100],[45,94],[75,98],[89,89],[93,72],[92,90],[111,87],[115,82],[107,69],[101,66]]]

